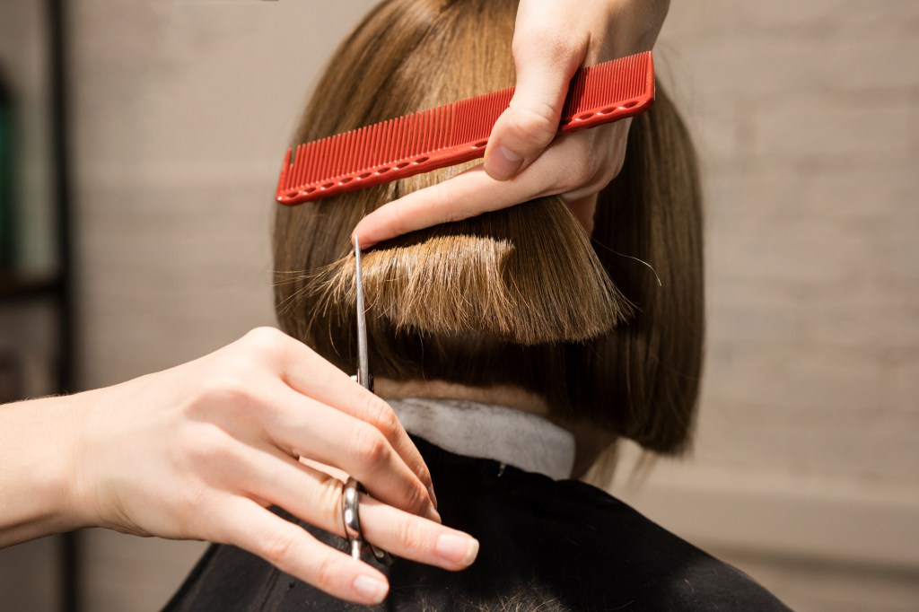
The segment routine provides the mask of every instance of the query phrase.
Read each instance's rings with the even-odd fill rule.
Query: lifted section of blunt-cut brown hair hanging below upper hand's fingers
[[[401,236],[364,253],[361,267],[368,318],[397,332],[531,346],[584,341],[631,313],[558,198]],[[318,312],[353,312],[352,257],[309,284]]]

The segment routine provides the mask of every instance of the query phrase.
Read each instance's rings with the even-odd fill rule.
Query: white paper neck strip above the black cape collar
[[[386,400],[403,427],[440,448],[494,459],[554,480],[571,478],[574,436],[523,411],[462,400]]]

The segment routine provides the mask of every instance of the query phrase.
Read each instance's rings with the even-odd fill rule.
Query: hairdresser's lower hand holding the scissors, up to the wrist
[[[267,509],[344,536],[342,483],[301,461],[312,459],[367,488],[361,527],[384,550],[448,570],[478,550],[439,524],[430,474],[388,404],[277,330],[57,399],[71,402],[65,497],[78,526],[233,544],[332,595],[379,602],[380,572]]]

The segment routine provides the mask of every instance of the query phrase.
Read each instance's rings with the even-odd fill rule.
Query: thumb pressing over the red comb
[[[518,24],[516,91],[510,106],[494,122],[485,148],[485,172],[501,181],[526,168],[555,138],[568,84],[584,58],[583,51],[567,45],[546,40],[519,44],[519,38]]]

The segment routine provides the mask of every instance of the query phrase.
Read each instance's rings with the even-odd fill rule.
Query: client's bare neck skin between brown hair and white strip
[[[406,398],[428,398],[433,400],[462,400],[488,403],[514,408],[530,414],[538,414],[555,425],[567,429],[574,436],[574,469],[572,476],[579,478],[594,464],[599,454],[615,441],[615,436],[598,427],[578,422],[569,423],[550,414],[549,403],[536,393],[512,385],[494,387],[467,387],[444,380],[396,381],[377,379],[375,391],[382,398],[403,400]]]

